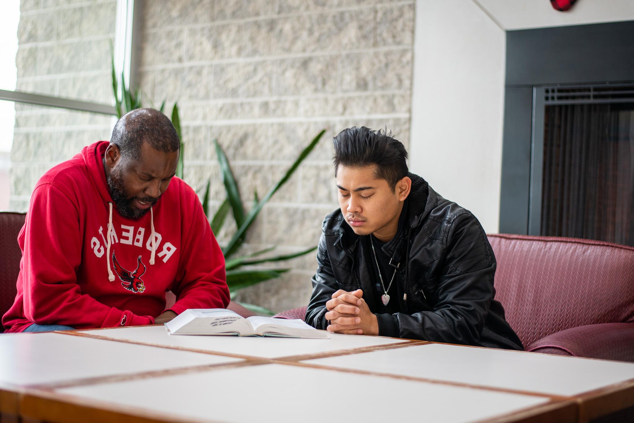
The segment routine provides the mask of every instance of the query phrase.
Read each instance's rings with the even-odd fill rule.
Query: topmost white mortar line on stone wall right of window
[[[342,11],[355,11],[355,10],[365,10],[365,9],[375,9],[375,8],[386,8],[386,7],[398,7],[404,6],[407,4],[414,4],[415,1],[396,1],[394,3],[378,3],[378,4],[362,4],[359,6],[344,6],[339,8],[325,8],[325,9],[316,9],[302,12],[294,12],[294,13],[280,13],[278,15],[262,15],[262,16],[249,16],[248,18],[240,18],[240,19],[226,19],[226,20],[216,20],[208,23],[187,23],[184,25],[168,25],[157,28],[146,29],[143,32],[145,34],[152,34],[154,32],[164,32],[165,30],[179,30],[179,29],[206,29],[212,28],[219,25],[229,25],[232,23],[240,24],[240,23],[249,23],[249,22],[257,22],[259,20],[269,20],[269,19],[284,19],[284,18],[295,18],[299,16],[313,16],[313,15],[327,15],[339,13]]]

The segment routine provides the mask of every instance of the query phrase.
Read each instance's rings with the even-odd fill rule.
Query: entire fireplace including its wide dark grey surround
[[[507,32],[500,231],[634,245],[634,22]]]

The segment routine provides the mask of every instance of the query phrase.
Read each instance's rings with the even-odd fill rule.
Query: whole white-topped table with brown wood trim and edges
[[[574,422],[634,405],[631,363],[358,335],[0,335],[0,358],[0,412],[51,422]]]

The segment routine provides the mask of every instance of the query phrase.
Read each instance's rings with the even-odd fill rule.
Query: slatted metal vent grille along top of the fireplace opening
[[[634,102],[634,82],[625,84],[545,87],[544,101],[547,105],[632,103]]]

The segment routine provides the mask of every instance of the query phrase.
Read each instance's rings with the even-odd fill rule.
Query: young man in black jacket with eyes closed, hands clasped
[[[323,222],[306,322],[343,334],[523,349],[495,301],[495,256],[471,212],[408,172],[391,134],[335,138],[340,209]]]

